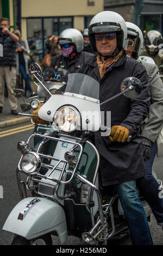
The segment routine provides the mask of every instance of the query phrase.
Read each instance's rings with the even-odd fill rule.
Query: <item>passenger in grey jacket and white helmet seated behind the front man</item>
[[[127,55],[131,58],[138,59],[143,47],[142,32],[133,23],[126,22],[126,25],[128,29]],[[151,207],[156,221],[163,228],[163,199],[159,198],[160,185],[152,175],[152,165],[157,150],[156,138],[163,126],[163,85],[158,74],[158,67],[151,63],[141,63],[145,66],[149,78],[151,106],[149,108],[148,118],[143,121],[141,126],[146,175],[137,179],[136,185]]]

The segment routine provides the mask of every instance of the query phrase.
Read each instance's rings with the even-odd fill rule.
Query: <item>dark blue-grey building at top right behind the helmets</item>
[[[104,10],[116,11],[144,33],[156,30],[163,34],[162,0],[104,0]]]

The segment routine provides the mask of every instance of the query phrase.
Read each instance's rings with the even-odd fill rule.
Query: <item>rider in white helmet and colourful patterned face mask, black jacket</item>
[[[58,38],[61,54],[52,59],[52,68],[62,68],[75,73],[85,59],[93,56],[90,52],[83,52],[84,39],[81,32],[75,28],[62,31]]]

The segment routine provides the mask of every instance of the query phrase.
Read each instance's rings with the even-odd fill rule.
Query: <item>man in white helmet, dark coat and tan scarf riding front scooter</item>
[[[120,93],[126,77],[136,77],[142,83],[142,92],[135,99],[122,95],[101,105],[101,111],[111,111],[111,134],[102,137],[100,131],[96,132],[95,144],[101,157],[102,184],[115,185],[133,245],[153,245],[135,182],[145,175],[140,126],[149,111],[147,72],[141,63],[126,56],[127,26],[121,15],[113,11],[95,15],[90,22],[89,38],[97,56],[87,59],[78,72],[100,83],[101,102]],[[129,136],[131,140],[127,142]]]

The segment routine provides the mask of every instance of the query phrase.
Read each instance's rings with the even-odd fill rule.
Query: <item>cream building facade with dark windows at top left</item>
[[[20,29],[22,38],[35,45],[36,62],[46,53],[49,35],[59,35],[66,28],[83,31],[103,9],[104,0],[0,0],[0,17],[8,17],[11,31]]]

